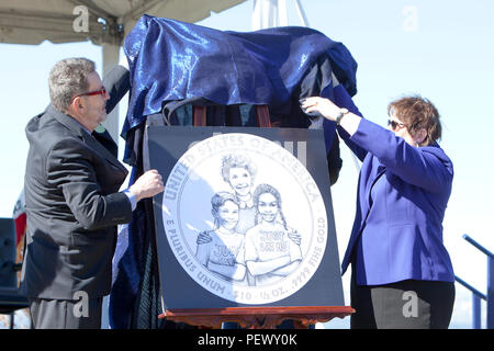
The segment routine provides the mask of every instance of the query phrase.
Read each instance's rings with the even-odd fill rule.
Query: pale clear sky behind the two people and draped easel
[[[302,0],[310,26],[343,42],[359,64],[355,102],[363,115],[386,121],[386,105],[419,93],[438,107],[441,146],[454,163],[445,242],[456,273],[486,288],[485,257],[464,241],[469,234],[494,250],[494,2],[491,0]],[[294,0],[287,0],[290,25],[301,25]],[[250,31],[252,1],[200,22],[220,30]],[[102,68],[102,54],[90,43],[0,44],[0,216],[12,216],[23,185],[27,141],[24,127],[48,103],[47,76],[59,59],[86,56]],[[121,106],[121,116],[125,107]],[[355,212],[357,169],[346,147],[344,169],[332,188],[338,247],[344,254]],[[349,274],[347,274],[349,275]],[[348,288],[348,276],[344,278]],[[457,285],[453,327],[470,327],[470,294]],[[347,302],[349,302],[348,296]],[[485,314],[484,314],[485,317]],[[344,326],[345,321],[335,326]]]

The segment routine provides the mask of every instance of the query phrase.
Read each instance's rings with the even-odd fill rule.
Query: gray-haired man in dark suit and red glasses
[[[114,68],[103,86],[94,63],[61,60],[49,75],[50,105],[26,126],[22,288],[35,328],[101,327],[116,225],[132,219],[141,199],[164,190],[151,170],[119,192],[127,170],[109,134],[93,133],[127,90],[123,67]]]

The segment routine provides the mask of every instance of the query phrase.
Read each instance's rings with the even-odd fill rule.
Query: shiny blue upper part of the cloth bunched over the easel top
[[[143,15],[124,50],[131,71],[124,137],[168,101],[201,97],[223,105],[268,104],[277,111],[322,55],[329,56],[349,94],[357,92],[350,52],[306,27],[240,33]],[[321,95],[330,88],[322,87]]]

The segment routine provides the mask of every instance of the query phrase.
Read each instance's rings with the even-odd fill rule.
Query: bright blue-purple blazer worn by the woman
[[[353,262],[360,285],[407,279],[453,282],[442,242],[453,179],[451,160],[438,144],[413,147],[364,118],[351,137],[339,129],[363,161],[343,273]]]

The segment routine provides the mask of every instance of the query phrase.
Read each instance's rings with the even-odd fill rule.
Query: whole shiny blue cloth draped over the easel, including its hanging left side
[[[332,73],[350,95],[357,92],[357,63],[350,52],[306,27],[240,33],[143,15],[125,38],[124,50],[131,91],[122,137],[126,140],[124,161],[134,167],[131,183],[143,172],[146,117],[171,113],[170,105],[200,101],[217,112],[218,107],[266,104],[271,121],[277,116],[284,121],[279,126],[307,127],[299,99],[314,94],[333,98]],[[173,121],[171,124],[190,124],[190,118]],[[228,125],[225,117],[211,121],[209,117],[209,125]],[[247,124],[237,121],[234,125]],[[335,124],[325,121],[324,132],[329,155]],[[127,249],[114,262],[117,274],[110,297],[110,322],[113,328],[159,327],[150,201],[139,203],[127,229]]]

